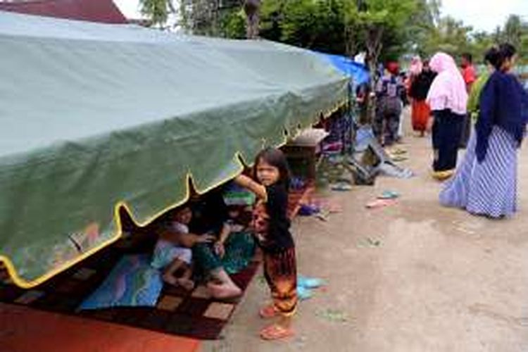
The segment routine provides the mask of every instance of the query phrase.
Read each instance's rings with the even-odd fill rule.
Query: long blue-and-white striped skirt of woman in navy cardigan
[[[473,131],[463,162],[440,193],[440,203],[491,218],[513,215],[517,210],[517,142],[494,126],[482,163],[477,161],[476,145]]]

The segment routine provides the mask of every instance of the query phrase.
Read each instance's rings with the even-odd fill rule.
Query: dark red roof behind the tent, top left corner
[[[32,0],[0,2],[0,11],[99,23],[127,23],[112,0]]]

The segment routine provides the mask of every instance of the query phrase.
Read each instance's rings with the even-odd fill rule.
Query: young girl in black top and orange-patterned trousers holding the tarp
[[[278,149],[264,149],[256,157],[254,172],[258,182],[244,175],[237,176],[234,182],[258,197],[253,230],[264,253],[264,276],[273,300],[272,305],[260,309],[260,317],[279,317],[277,324],[260,331],[260,337],[282,339],[294,334],[291,317],[297,306],[295,245],[287,218],[289,168],[286,157]]]

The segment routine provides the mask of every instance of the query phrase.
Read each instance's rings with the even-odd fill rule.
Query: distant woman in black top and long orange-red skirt
[[[427,130],[427,121],[431,114],[431,109],[425,99],[427,98],[427,92],[429,92],[435,74],[429,68],[429,61],[422,63],[419,57],[413,59],[411,68],[414,68],[414,70],[411,70],[413,77],[409,89],[409,96],[413,99],[413,130],[420,132],[420,136],[424,137],[425,130]]]

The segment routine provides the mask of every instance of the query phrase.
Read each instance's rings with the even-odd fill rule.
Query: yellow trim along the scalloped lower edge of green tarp
[[[326,113],[322,113],[323,118],[328,118],[330,115],[332,115],[337,110],[339,110],[339,108],[344,106],[344,104],[346,104],[347,101],[348,101],[348,99],[346,99],[345,101],[341,101],[340,103],[337,103],[337,105],[334,106],[334,108],[329,109]],[[320,115],[321,115],[321,113],[316,115],[315,118],[313,118],[313,121],[311,123],[313,124],[314,122],[317,122],[318,121],[318,117]],[[289,129],[284,128],[284,130],[286,130],[288,132],[288,135],[285,135],[284,133],[282,133],[282,142],[279,142],[279,144],[275,145],[275,147],[279,148],[281,146],[284,146],[284,144],[287,144],[287,142],[288,142],[288,140],[290,138],[294,139],[299,133],[301,133],[302,128],[303,128],[303,126],[301,124],[299,124],[298,128],[295,129],[296,133],[295,133],[294,136],[291,135],[291,132],[289,131]],[[265,144],[266,141],[267,140],[263,138],[263,144]],[[219,180],[218,182],[216,182],[215,184],[213,184],[210,187],[206,187],[204,189],[197,189],[196,188],[195,190],[198,192],[198,194],[205,194],[208,191],[210,191],[211,189],[214,189],[214,188],[220,186],[221,184],[224,184],[225,182],[227,182],[229,180],[232,180],[235,176],[239,175],[239,173],[244,170],[245,165],[251,166],[253,164],[253,162],[251,162],[251,163],[247,163],[246,162],[246,160],[244,159],[244,155],[241,153],[241,151],[237,151],[234,154],[233,160],[235,161],[235,163],[237,163],[239,165],[239,168],[237,169],[236,172],[233,172],[232,175],[230,174],[229,176],[223,178],[222,180]],[[118,241],[122,237],[122,228],[121,228],[122,224],[121,224],[121,218],[120,218],[120,215],[119,215],[119,209],[121,207],[123,207],[123,208],[125,208],[125,210],[127,210],[127,213],[130,215],[130,218],[132,219],[132,222],[134,222],[134,225],[136,225],[137,227],[145,227],[145,226],[149,225],[151,222],[153,222],[153,220],[156,220],[156,218],[158,218],[159,216],[163,215],[163,213],[166,213],[168,210],[172,210],[174,208],[177,208],[178,206],[181,206],[183,203],[187,202],[189,200],[189,196],[191,194],[191,189],[189,187],[190,182],[192,182],[194,187],[196,187],[196,182],[193,181],[193,177],[191,175],[191,172],[189,171],[189,172],[187,172],[187,175],[185,177],[185,196],[184,196],[184,199],[182,199],[181,201],[177,201],[176,203],[172,203],[170,206],[166,206],[165,208],[163,208],[163,210],[160,210],[157,213],[155,213],[154,215],[148,217],[147,220],[145,220],[144,222],[138,222],[136,220],[136,217],[134,216],[134,213],[132,213],[132,211],[130,210],[130,206],[128,206],[127,203],[125,203],[125,201],[118,201],[118,203],[115,204],[114,211],[113,211],[113,213],[114,213],[113,218],[114,218],[115,225],[117,226],[118,230],[113,235],[113,237],[111,237],[111,239],[108,239],[108,240],[104,241],[103,243],[99,244],[99,246],[96,246],[96,247],[94,247],[92,249],[89,249],[89,251],[87,251],[85,253],[82,253],[77,258],[74,258],[72,260],[66,261],[65,263],[63,263],[62,265],[59,265],[57,268],[54,268],[50,272],[46,272],[46,274],[42,275],[41,277],[37,277],[37,279],[31,280],[31,281],[27,281],[27,280],[23,279],[22,277],[20,277],[20,275],[18,275],[17,271],[15,270],[15,265],[13,265],[13,262],[11,261],[11,259],[9,259],[6,256],[1,256],[0,255],[0,263],[4,263],[4,265],[5,265],[6,269],[7,269],[9,277],[11,278],[13,283],[16,284],[18,287],[21,287],[23,289],[31,289],[32,287],[36,287],[39,284],[42,284],[43,282],[46,282],[46,280],[51,279],[51,277],[54,277],[55,275],[65,271],[65,270],[68,270],[69,268],[73,267],[73,265],[75,265],[77,263],[80,263],[82,260],[88,258],[89,256],[92,256],[94,253],[96,253],[96,252],[100,251],[101,249],[104,249],[105,247],[110,246],[114,242]]]

